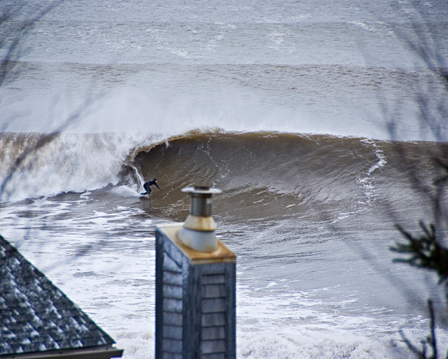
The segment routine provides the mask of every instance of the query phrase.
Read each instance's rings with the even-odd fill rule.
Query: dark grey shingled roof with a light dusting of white
[[[121,356],[115,341],[0,236],[0,358],[95,352]],[[80,355],[76,353],[81,353]],[[106,353],[106,355],[104,355]],[[98,355],[87,355],[88,358]]]

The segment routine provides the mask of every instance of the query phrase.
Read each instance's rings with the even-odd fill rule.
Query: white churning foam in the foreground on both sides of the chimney
[[[141,239],[114,236],[99,250],[76,255],[77,249],[95,246],[98,238],[35,234],[26,245],[15,243],[21,252],[116,339],[117,346],[125,349],[125,358],[153,358],[154,238],[146,238],[145,244]],[[51,238],[63,245],[64,252],[49,244]],[[365,316],[352,317],[325,313],[314,309],[322,299],[316,301],[310,292],[279,292],[273,289],[277,284],[270,281],[258,290],[251,285],[238,285],[237,358],[358,359],[409,355],[398,333],[391,332],[391,327],[400,323],[379,323],[367,311]],[[411,338],[423,337],[425,332],[420,327],[413,330]],[[437,334],[444,347],[444,331],[437,330]]]

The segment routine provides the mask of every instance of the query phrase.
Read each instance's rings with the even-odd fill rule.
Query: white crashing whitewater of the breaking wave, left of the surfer
[[[0,200],[19,201],[69,191],[83,193],[116,184],[118,172],[132,155],[132,149],[150,146],[162,138],[165,137],[148,134],[61,133],[26,156],[19,168],[13,167],[13,161],[8,157],[3,158],[0,163],[0,182],[3,182]],[[8,145],[16,146],[15,142]],[[137,192],[137,188],[134,190]],[[123,188],[115,191],[125,194]]]

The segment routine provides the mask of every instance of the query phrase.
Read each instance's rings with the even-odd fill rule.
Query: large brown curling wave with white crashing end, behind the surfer
[[[207,184],[238,196],[243,203],[251,203],[253,194],[262,194],[257,203],[251,203],[254,215],[262,213],[267,203],[269,212],[274,206],[286,212],[289,208],[295,215],[324,215],[325,211],[346,208],[349,201],[351,210],[357,212],[374,201],[378,191],[387,190],[391,197],[396,194],[400,201],[415,196],[405,191],[409,171],[434,171],[431,156],[440,146],[210,129],[171,137],[2,133],[1,201],[83,193],[107,186],[127,187],[129,191],[121,191],[121,195],[137,195],[144,180],[158,177],[167,190]],[[410,167],[403,162],[403,154],[412,154]],[[428,175],[428,181],[432,178]]]

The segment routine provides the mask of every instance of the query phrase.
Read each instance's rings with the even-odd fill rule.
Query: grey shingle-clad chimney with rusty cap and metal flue
[[[186,187],[186,222],[155,226],[155,358],[236,358],[236,255],[219,238],[208,187]]]

